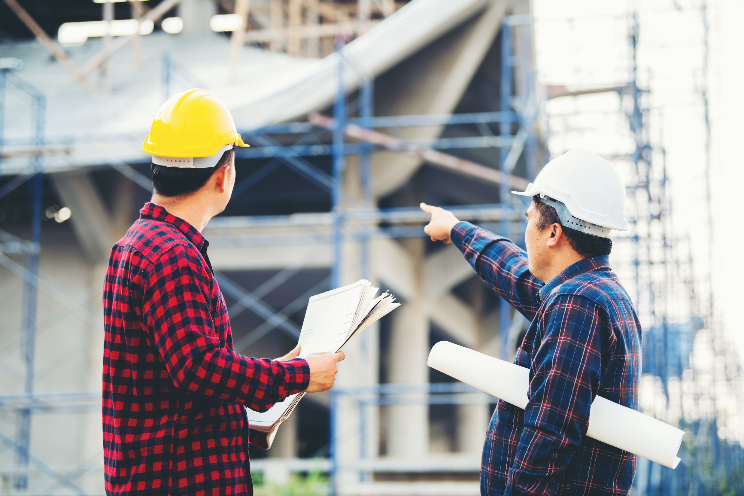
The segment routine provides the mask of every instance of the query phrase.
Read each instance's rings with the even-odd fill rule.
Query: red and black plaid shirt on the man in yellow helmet
[[[103,457],[109,495],[252,494],[244,405],[307,388],[307,361],[232,350],[199,231],[147,203],[103,287]]]

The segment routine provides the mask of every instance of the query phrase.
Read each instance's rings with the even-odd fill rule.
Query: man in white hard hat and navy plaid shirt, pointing
[[[526,253],[421,204],[432,215],[426,234],[460,248],[478,276],[530,321],[514,358],[530,369],[527,407],[498,402],[481,495],[627,495],[635,455],[585,435],[597,394],[638,408],[641,325],[608,260],[610,231],[626,230],[625,188],[599,155],[572,151],[513,193],[532,197]]]

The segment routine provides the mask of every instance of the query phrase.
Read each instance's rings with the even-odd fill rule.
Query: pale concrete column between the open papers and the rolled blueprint
[[[423,239],[404,244],[414,267],[414,293],[391,314],[389,371],[395,384],[426,384],[429,369],[429,320],[422,285]],[[388,454],[422,457],[429,452],[429,405],[396,405],[388,408]]]

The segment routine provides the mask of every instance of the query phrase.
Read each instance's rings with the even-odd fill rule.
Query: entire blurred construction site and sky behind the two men
[[[307,299],[404,303],[269,451],[260,495],[477,495],[496,399],[426,367],[507,360],[527,322],[419,202],[523,244],[521,189],[590,149],[626,182],[612,265],[644,328],[644,413],[686,431],[633,495],[744,494],[736,0],[1,0],[0,494],[101,495],[101,292],[150,199],[141,142],[200,87],[251,144],[205,229],[238,352],[279,356]],[[731,187],[731,186],[734,187]],[[498,378],[494,378],[498,380]]]

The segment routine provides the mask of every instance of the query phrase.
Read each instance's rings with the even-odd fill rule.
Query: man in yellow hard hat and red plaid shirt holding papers
[[[232,350],[201,231],[230,199],[236,145],[247,146],[228,109],[192,89],[161,106],[142,146],[153,199],[114,245],[103,289],[109,495],[251,495],[245,407],[327,390],[344,359]]]

